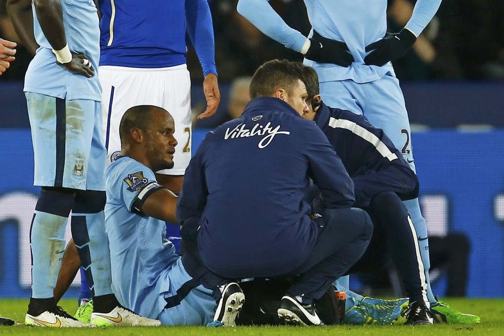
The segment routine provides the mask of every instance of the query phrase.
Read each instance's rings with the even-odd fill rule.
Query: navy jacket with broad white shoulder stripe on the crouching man
[[[354,207],[394,191],[402,200],[418,197],[416,174],[381,128],[363,115],[322,104],[314,121],[325,133],[355,185]]]

